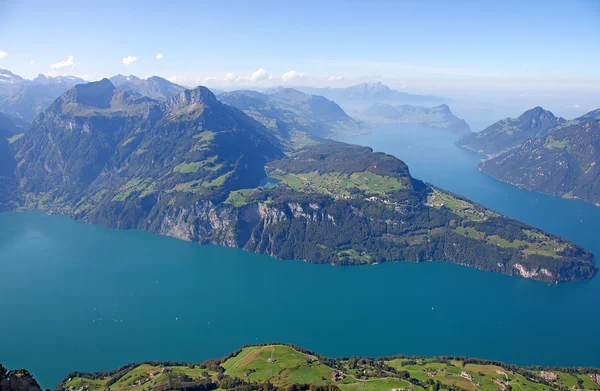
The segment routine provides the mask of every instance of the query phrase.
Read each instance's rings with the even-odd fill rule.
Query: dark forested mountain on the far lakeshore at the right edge
[[[566,121],[535,108],[501,123],[459,142],[491,155],[479,165],[481,171],[528,190],[600,206],[600,110]]]

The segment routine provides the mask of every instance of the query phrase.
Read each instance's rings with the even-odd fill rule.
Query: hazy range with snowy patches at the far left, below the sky
[[[74,76],[39,75],[26,80],[0,69],[0,111],[31,122],[61,94],[81,83],[86,81]]]

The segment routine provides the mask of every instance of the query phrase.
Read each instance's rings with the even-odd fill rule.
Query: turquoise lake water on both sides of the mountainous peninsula
[[[488,178],[452,135],[390,126],[350,141],[600,254],[600,208]],[[0,362],[48,388],[75,369],[200,361],[268,341],[331,356],[600,366],[599,278],[556,286],[442,262],[310,265],[41,212],[0,214],[0,270]]]

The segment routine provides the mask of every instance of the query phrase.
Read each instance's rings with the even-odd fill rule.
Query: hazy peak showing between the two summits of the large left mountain
[[[110,78],[117,88],[130,93],[150,97],[159,101],[166,101],[184,91],[186,88],[172,83],[162,77],[152,76],[148,79],[140,79],[134,75],[117,75]]]

